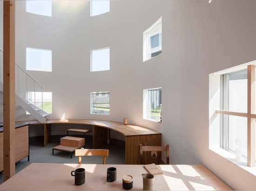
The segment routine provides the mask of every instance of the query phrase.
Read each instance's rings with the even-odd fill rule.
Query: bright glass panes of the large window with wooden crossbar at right
[[[222,105],[227,111],[247,113],[247,70],[221,76]],[[236,160],[247,157],[247,118],[236,115],[222,117],[222,148],[236,154]]]

